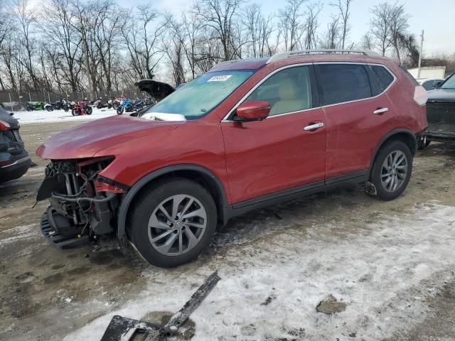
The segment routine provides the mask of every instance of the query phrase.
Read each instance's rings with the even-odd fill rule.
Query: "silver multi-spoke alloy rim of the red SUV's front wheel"
[[[207,225],[205,207],[191,195],[173,195],[152,212],[148,231],[151,246],[166,256],[184,254],[198,244]]]

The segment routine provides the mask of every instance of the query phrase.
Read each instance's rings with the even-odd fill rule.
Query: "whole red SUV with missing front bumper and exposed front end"
[[[301,51],[232,60],[142,117],[53,136],[38,200],[61,248],[127,242],[151,264],[200,254],[230,217],[346,183],[403,193],[427,92],[390,58]]]

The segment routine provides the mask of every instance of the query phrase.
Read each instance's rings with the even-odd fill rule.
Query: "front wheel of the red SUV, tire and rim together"
[[[170,268],[192,261],[208,247],[217,221],[208,190],[177,178],[157,183],[137,200],[129,237],[146,261]]]

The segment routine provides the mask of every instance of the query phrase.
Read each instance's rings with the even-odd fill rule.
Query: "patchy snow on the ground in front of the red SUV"
[[[274,230],[272,224],[261,227]],[[255,240],[240,234],[235,245],[222,236],[216,254],[196,271],[150,267],[143,274],[148,288],[134,301],[65,340],[100,340],[113,315],[176,312],[215,269],[222,279],[191,315],[193,340],[379,340],[422,321],[424,301],[453,280],[454,207],[420,205],[360,230],[331,222],[274,231]],[[329,294],[346,310],[317,313]]]

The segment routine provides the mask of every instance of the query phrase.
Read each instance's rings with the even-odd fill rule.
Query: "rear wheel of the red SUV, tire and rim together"
[[[373,163],[370,183],[381,200],[393,200],[405,191],[412,174],[413,156],[402,141],[391,141],[382,146]]]

